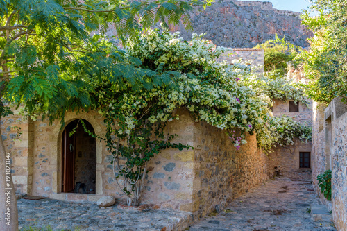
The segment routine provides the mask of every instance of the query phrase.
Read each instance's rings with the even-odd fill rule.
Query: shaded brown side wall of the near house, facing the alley
[[[247,144],[237,151],[228,135],[205,122],[194,126],[196,166],[192,204],[198,216],[262,184],[266,176],[267,157],[257,149],[255,135],[246,135]]]

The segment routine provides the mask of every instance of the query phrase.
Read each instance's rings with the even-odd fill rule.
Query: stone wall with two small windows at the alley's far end
[[[273,116],[282,115],[294,117],[296,121],[312,125],[312,101],[308,107],[298,102],[298,112],[289,112],[289,101],[274,100]],[[294,139],[294,145],[273,148],[273,153],[269,154],[269,177],[280,176],[291,180],[311,180],[312,168],[303,169],[299,166],[300,152],[311,152],[312,155],[312,142],[303,143],[299,139]],[[312,166],[312,157],[310,166]]]

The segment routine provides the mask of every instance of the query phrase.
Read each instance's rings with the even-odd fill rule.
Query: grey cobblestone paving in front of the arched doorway
[[[191,218],[188,212],[149,210],[142,212],[100,209],[96,203],[59,200],[18,200],[19,229],[29,230],[183,230]],[[50,229],[49,229],[49,228]],[[184,228],[182,228],[184,227]]]

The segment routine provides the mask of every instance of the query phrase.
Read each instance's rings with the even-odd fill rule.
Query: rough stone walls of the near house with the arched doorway
[[[225,131],[205,122],[192,121],[185,110],[178,110],[177,113],[180,119],[170,122],[167,132],[178,135],[174,142],[189,144],[194,149],[167,149],[152,158],[148,164],[142,203],[155,208],[189,211],[194,214],[194,219],[198,219],[212,212],[216,205],[222,209],[232,198],[267,179],[267,157],[257,150],[255,136],[247,135],[248,143],[236,151]],[[85,119],[97,135],[105,134],[103,118],[96,112],[78,115],[68,112],[65,124],[75,119]],[[59,121],[49,125],[48,121],[37,119],[31,121],[31,127],[34,141],[33,162],[29,166],[33,167],[31,194],[61,200],[89,200],[90,196],[86,194],[61,193],[63,129]],[[85,137],[85,140],[89,139]],[[13,144],[11,150],[19,149]],[[17,158],[14,158],[13,169],[22,169],[18,162],[22,159]],[[96,139],[96,196],[110,195],[124,201],[125,196],[115,182],[111,161],[112,155],[106,151],[105,144]],[[21,187],[18,181],[16,185]]]

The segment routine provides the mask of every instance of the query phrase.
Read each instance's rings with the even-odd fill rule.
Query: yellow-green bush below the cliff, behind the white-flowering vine
[[[279,39],[277,34],[274,40],[267,40],[263,44],[257,44],[257,49],[264,49],[264,71],[273,72],[279,76],[287,74],[289,66],[297,67],[295,58],[303,49],[285,41],[285,37]],[[273,78],[276,77],[272,76]]]

